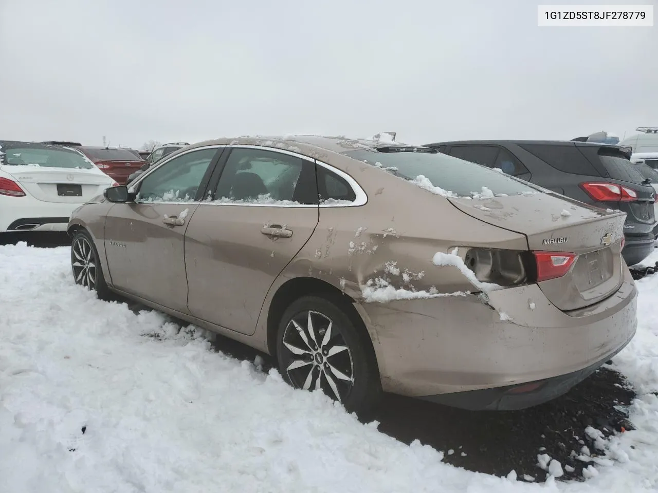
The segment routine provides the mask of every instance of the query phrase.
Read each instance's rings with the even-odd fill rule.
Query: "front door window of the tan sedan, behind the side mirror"
[[[159,166],[139,184],[138,202],[193,202],[217,149],[182,154]]]

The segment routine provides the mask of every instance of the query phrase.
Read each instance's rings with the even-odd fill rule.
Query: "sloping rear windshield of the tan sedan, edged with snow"
[[[379,153],[359,149],[344,154],[378,168],[384,168],[407,180],[417,180],[418,176],[424,176],[434,187],[441,187],[460,197],[481,194],[482,187],[490,189],[495,195],[519,195],[538,191],[529,184],[486,166],[442,153],[410,151]]]

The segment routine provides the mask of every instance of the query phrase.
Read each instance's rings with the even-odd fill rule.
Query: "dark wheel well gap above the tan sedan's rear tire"
[[[295,277],[286,281],[274,294],[270,309],[267,314],[267,348],[273,358],[276,358],[276,330],[286,308],[301,296],[322,296],[334,302],[338,302],[345,308],[345,312],[355,325],[365,325],[357,310],[352,304],[354,300],[348,294],[343,293],[335,286],[326,281],[320,281],[315,277]]]

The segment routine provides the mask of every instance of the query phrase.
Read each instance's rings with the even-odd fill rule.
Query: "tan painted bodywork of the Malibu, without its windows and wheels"
[[[207,202],[201,189],[175,206],[87,204],[69,228],[91,233],[115,291],[273,354],[275,296],[288,283],[314,279],[349,296],[384,390],[409,396],[563,375],[617,352],[635,331],[636,288],[620,256],[624,214],[541,190],[442,195],[419,186],[422,179],[343,154],[376,145],[342,137],[207,141],[166,156],[130,188],[176,156],[209,146],[293,153],[316,171],[329,166],[352,179],[358,199],[226,205]],[[211,168],[220,170],[217,163]],[[184,225],[155,227],[163,214],[186,208]],[[268,227],[291,234],[271,237]],[[466,264],[473,248],[569,251],[578,260],[557,279],[499,286],[475,279]],[[166,266],[168,273],[156,272]]]

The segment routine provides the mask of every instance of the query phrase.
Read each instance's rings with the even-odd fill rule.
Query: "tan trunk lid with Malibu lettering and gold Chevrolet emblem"
[[[566,275],[538,283],[560,310],[599,302],[622,283],[623,212],[607,212],[553,193],[448,200],[468,216],[522,233],[530,250],[576,254]]]

